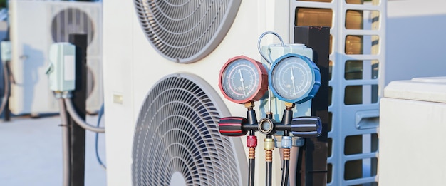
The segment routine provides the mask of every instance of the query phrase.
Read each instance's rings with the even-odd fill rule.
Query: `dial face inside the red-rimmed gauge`
[[[234,100],[246,100],[256,94],[259,88],[259,71],[254,63],[237,59],[222,73],[223,91]]]

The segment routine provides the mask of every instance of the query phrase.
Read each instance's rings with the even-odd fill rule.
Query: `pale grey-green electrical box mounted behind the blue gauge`
[[[313,60],[313,49],[306,47],[304,44],[301,43],[292,43],[292,44],[285,44],[282,46],[281,44],[274,44],[274,45],[267,45],[261,47],[261,52],[264,53],[264,56],[268,58],[269,61],[271,61],[271,65],[274,64],[277,58],[280,58],[281,56],[284,56],[288,53],[296,53],[301,56],[306,56]],[[271,66],[268,66],[268,63],[264,60],[264,58],[261,59],[261,63],[264,64],[266,69],[269,69],[271,71]],[[273,118],[274,120],[281,120],[282,113],[286,109],[285,102],[282,100],[279,100],[274,97],[274,95],[271,95],[271,112],[274,113]],[[262,100],[259,107],[260,113],[266,113],[269,110],[269,103],[268,99]],[[305,103],[296,104],[296,108],[293,109],[294,114],[293,117],[299,117],[299,116],[310,116],[311,115],[311,100],[306,101]],[[261,115],[261,117],[264,117],[265,115]]]

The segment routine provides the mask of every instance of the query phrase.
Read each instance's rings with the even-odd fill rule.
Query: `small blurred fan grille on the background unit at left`
[[[88,44],[93,41],[93,21],[80,9],[63,9],[51,21],[51,36],[54,42],[68,42],[73,33],[87,34]]]

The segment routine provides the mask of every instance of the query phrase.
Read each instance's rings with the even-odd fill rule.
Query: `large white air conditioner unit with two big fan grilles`
[[[219,118],[246,117],[247,110],[224,98],[219,71],[234,56],[260,61],[257,41],[265,31],[290,43],[290,4],[104,1],[108,185],[247,185],[246,137],[227,138],[218,130]],[[276,42],[272,38],[264,41]],[[261,185],[264,135],[258,137]],[[278,151],[274,185],[281,182]]]

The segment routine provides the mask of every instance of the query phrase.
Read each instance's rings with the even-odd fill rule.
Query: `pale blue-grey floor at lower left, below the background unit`
[[[87,117],[96,125],[98,116]],[[60,118],[13,117],[0,121],[0,185],[62,185]],[[103,122],[102,124],[103,125]],[[95,133],[85,141],[85,186],[107,185],[105,170],[96,160]],[[105,162],[104,135],[99,135],[99,155]],[[106,164],[106,162],[105,162]]]

